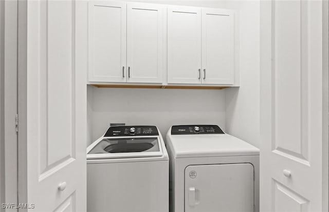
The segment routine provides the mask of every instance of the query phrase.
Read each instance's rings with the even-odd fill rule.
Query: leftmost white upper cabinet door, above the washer
[[[89,81],[126,82],[126,3],[89,2]]]

